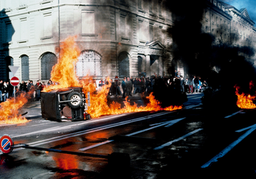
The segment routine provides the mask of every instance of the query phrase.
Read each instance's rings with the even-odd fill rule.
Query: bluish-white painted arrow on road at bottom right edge
[[[250,129],[250,130],[248,130]],[[232,148],[234,148],[235,145],[238,145],[239,142],[241,142],[244,138],[246,138],[248,135],[251,134],[251,132],[254,132],[254,130],[256,129],[256,124],[251,125],[247,128],[244,129],[240,129],[236,132],[242,132],[244,130],[248,130],[247,132],[244,133],[244,135],[241,135],[238,140],[234,141],[231,143],[231,145],[228,145],[227,148],[224,148],[224,150],[222,150],[218,155],[215,155],[214,158],[211,158],[210,161],[206,162],[205,164],[203,164],[201,166],[201,168],[208,168],[208,166],[212,163],[212,162],[217,162],[218,158],[222,158],[224,155],[226,155],[228,153],[228,151],[231,151]]]

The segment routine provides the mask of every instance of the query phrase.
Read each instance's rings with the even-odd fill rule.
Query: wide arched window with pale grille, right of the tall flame
[[[76,74],[82,76],[101,76],[101,56],[93,50],[81,52],[76,63]]]

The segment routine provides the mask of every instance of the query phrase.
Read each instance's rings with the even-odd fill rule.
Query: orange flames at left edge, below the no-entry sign
[[[28,102],[29,96],[34,91],[29,93],[21,93],[16,99],[10,98],[1,103],[0,106],[0,123],[2,124],[20,124],[28,122],[25,117],[19,114],[19,109]]]

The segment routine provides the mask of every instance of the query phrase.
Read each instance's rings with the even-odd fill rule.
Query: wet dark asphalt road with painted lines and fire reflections
[[[10,135],[15,145],[103,158],[15,148],[0,155],[0,178],[255,178],[255,110],[204,109],[202,95],[188,95],[184,108],[174,112],[82,122],[47,121],[36,117],[38,105],[28,106],[31,121],[2,125],[0,135]]]

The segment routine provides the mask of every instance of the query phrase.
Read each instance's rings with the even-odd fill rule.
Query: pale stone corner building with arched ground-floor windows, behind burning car
[[[77,35],[77,74],[169,75],[171,12],[165,0],[1,0],[0,78],[18,66],[20,80],[49,80],[56,47]]]

